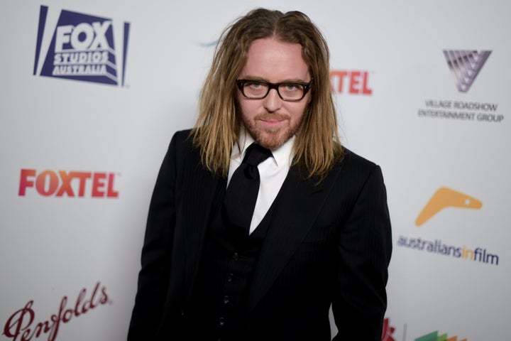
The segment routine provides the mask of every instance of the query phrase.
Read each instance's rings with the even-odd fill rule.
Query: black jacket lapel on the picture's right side
[[[297,167],[290,168],[275,199],[272,221],[248,293],[248,311],[272,286],[313,226],[331,188],[329,184],[339,173],[339,168],[334,169],[321,184],[315,185],[314,179],[301,178]]]

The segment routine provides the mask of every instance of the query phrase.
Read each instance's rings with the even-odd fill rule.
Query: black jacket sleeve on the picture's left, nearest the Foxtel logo
[[[175,135],[163,159],[150,201],[128,341],[153,340],[165,308],[175,228],[176,144]]]

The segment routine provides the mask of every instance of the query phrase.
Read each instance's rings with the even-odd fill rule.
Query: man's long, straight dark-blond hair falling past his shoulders
[[[305,171],[306,178],[317,177],[321,181],[341,160],[343,148],[329,80],[329,48],[314,23],[299,11],[254,9],[221,34],[199,99],[199,117],[192,129],[194,146],[200,150],[204,167],[226,176],[241,122],[236,78],[253,40],[270,37],[302,45],[302,57],[314,78],[312,100],[293,146],[293,165]]]

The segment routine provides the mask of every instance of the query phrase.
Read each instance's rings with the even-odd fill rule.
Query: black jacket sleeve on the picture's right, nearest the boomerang
[[[334,340],[380,341],[392,238],[379,166],[373,164],[359,188],[337,246],[339,269],[332,311],[339,333]]]

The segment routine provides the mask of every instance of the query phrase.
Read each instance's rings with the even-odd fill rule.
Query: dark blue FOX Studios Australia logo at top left
[[[123,23],[121,49],[116,50],[110,18],[62,10],[44,56],[45,30],[50,30],[47,18],[48,6],[40,6],[33,75],[124,85],[129,23]]]

